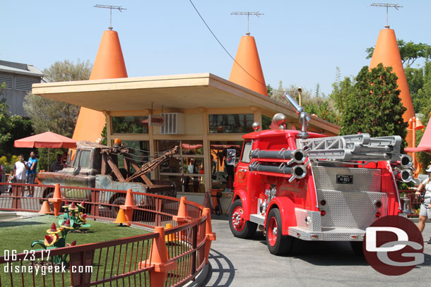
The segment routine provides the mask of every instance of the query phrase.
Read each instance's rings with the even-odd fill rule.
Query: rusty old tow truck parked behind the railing
[[[81,188],[100,188],[99,202],[121,205],[125,202],[124,193],[106,193],[103,190],[128,190],[138,193],[153,193],[176,197],[175,183],[151,180],[146,173],[153,171],[163,161],[177,153],[178,147],[164,152],[160,157],[138,166],[131,149],[123,145],[107,147],[93,142],[80,141],[75,150],[69,152],[67,167],[58,172],[40,172],[37,178],[42,185],[52,187],[42,190],[42,197],[52,197],[54,185],[64,188],[66,200],[91,201],[90,190]],[[122,161],[122,168],[119,168]],[[134,173],[132,173],[132,168]],[[70,188],[69,188],[70,187]],[[78,188],[73,188],[78,187]],[[88,204],[87,209],[90,207]],[[88,212],[88,210],[86,210]]]

